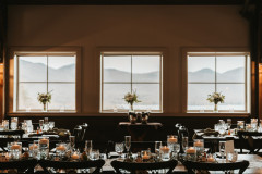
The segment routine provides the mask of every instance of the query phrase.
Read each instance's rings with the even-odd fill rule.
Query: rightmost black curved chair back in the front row
[[[194,174],[196,171],[231,171],[239,170],[239,174],[243,173],[249,166],[249,161],[234,162],[234,163],[207,163],[183,161],[183,165],[188,169],[189,174]]]

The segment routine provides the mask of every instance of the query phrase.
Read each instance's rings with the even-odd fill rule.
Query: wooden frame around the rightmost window
[[[243,55],[246,58],[245,62],[245,111],[243,110],[234,110],[234,112],[229,112],[229,110],[219,110],[218,113],[215,114],[236,114],[236,113],[250,113],[251,111],[251,58],[250,52],[246,48],[183,48],[182,49],[182,104],[183,104],[183,112],[184,113],[200,113],[200,110],[188,110],[188,55],[212,55],[212,57],[222,57],[222,55]],[[249,74],[248,74],[249,73]],[[215,72],[216,76],[216,72]],[[199,84],[199,83],[198,83]],[[219,83],[210,83],[214,84],[215,86]],[[221,83],[221,84],[235,84],[235,83]],[[201,113],[213,113],[213,110],[204,110]]]

